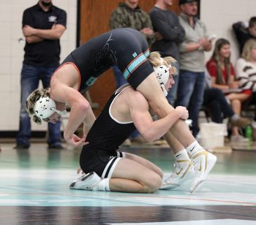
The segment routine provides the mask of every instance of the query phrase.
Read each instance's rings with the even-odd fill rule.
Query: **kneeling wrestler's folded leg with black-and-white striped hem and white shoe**
[[[161,169],[130,153],[86,150],[84,147],[80,166],[86,175],[75,180],[70,188],[151,193],[161,186]]]

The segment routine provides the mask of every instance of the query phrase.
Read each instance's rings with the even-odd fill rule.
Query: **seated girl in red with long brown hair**
[[[241,102],[248,99],[252,91],[238,88],[238,81],[235,81],[235,72],[230,62],[230,42],[227,39],[217,40],[214,53],[210,61],[207,62],[206,67],[211,75],[212,87],[222,90],[234,112],[240,115]],[[246,138],[239,134],[238,127],[233,126],[231,141],[244,140]]]

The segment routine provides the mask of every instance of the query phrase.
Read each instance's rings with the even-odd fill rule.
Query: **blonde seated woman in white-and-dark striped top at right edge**
[[[256,39],[249,39],[244,45],[241,58],[236,62],[236,77],[239,81],[239,87],[250,89],[252,99],[249,104],[256,103]],[[255,121],[252,123],[254,128],[254,140],[256,140],[256,113]]]

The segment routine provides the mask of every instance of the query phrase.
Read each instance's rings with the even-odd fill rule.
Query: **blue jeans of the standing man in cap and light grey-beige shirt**
[[[190,72],[180,70],[176,106],[181,105],[189,110],[189,118],[192,119],[192,134],[196,137],[198,132],[198,115],[203,104],[205,89],[204,72]]]

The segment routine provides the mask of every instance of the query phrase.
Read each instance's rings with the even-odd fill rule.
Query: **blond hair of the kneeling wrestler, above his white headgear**
[[[164,64],[167,67],[169,67],[171,65],[173,68],[173,74],[176,74],[176,59],[175,58],[173,58],[171,56],[161,58],[161,55],[159,54],[159,52],[151,52],[147,59],[148,59],[149,63],[151,64],[151,66],[154,66],[154,67],[161,66],[162,64]]]

